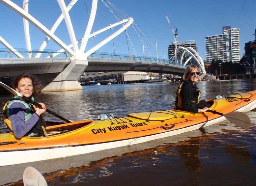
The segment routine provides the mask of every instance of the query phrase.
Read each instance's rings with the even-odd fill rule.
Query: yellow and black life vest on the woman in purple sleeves
[[[32,97],[32,99],[34,99],[34,98]],[[10,109],[9,108],[14,102],[20,102],[26,107],[24,121],[28,120],[33,115],[33,113],[35,113],[35,111],[36,111],[35,105],[33,105],[31,103],[27,103],[24,99],[21,99],[18,96],[14,96],[13,99],[8,101],[3,108],[3,121],[5,123],[5,126],[9,129],[11,134],[13,134],[13,129],[12,129],[12,124],[11,124],[11,120],[10,120],[10,112],[9,112]],[[26,134],[26,136],[29,136],[30,134],[37,134],[36,136],[47,136],[45,128],[46,128],[46,124],[44,121],[44,116],[43,116],[43,114],[41,114],[39,116],[38,122]],[[36,137],[36,136],[34,136],[34,137]]]

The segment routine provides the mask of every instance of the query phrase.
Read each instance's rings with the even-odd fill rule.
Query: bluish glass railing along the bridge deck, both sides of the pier
[[[20,53],[25,58],[30,53],[32,58],[36,56],[37,53],[42,53],[40,58],[46,58],[50,57],[53,58],[53,53],[59,53],[54,58],[69,58],[70,55],[67,52],[58,52],[58,50],[44,50],[44,51],[38,51],[37,49],[32,49],[30,51],[27,51],[26,49],[16,49],[16,52]],[[108,52],[94,52],[89,58],[106,58],[106,59],[119,59],[119,60],[133,60],[133,61],[147,61],[152,63],[166,63],[166,64],[173,64],[177,66],[184,66],[184,64],[176,63],[176,62],[170,62],[165,59],[159,59],[154,57],[146,57],[146,56],[135,56],[135,55],[129,55],[129,54],[117,54],[117,53],[108,53]],[[0,48],[0,58],[18,58],[13,51],[10,51],[6,48]]]

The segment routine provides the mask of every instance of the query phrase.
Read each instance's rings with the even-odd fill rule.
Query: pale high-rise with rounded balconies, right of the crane
[[[206,59],[205,63],[212,60],[222,62],[239,63],[240,61],[240,40],[239,29],[222,27],[222,34],[205,37]]]

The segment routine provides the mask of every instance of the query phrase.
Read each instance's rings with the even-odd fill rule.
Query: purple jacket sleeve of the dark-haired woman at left
[[[17,138],[25,136],[39,120],[39,116],[34,113],[28,120],[24,121],[26,107],[20,102],[14,102],[9,109],[13,133]]]

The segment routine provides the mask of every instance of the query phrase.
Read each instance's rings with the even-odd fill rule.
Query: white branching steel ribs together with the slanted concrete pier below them
[[[42,51],[45,49],[49,40],[53,40],[60,48],[61,51],[66,51],[70,55],[70,64],[56,76],[54,76],[53,81],[44,88],[44,91],[66,91],[66,90],[81,90],[81,85],[77,82],[82,72],[88,66],[87,57],[90,56],[93,52],[98,50],[100,47],[105,45],[110,40],[114,39],[116,36],[121,34],[125,31],[132,23],[133,18],[126,18],[123,20],[117,19],[116,23],[110,24],[105,28],[102,28],[96,32],[92,32],[92,27],[94,24],[96,12],[97,12],[97,5],[98,0],[91,0],[91,13],[89,15],[89,21],[87,27],[84,31],[84,36],[80,40],[76,40],[75,32],[72,26],[71,18],[69,11],[71,8],[76,4],[78,0],[70,0],[68,6],[66,6],[64,0],[57,0],[61,15],[53,25],[53,27],[49,30],[46,28],[41,22],[39,22],[35,17],[28,13],[29,9],[29,0],[23,0],[22,7],[18,6],[11,0],[0,0],[0,3],[8,7],[9,9],[13,10],[15,13],[19,14],[23,18],[23,27],[24,27],[24,34],[25,34],[25,41],[26,47],[29,58],[33,58],[31,52],[31,41],[30,41],[30,32],[29,32],[29,23],[33,24],[36,28],[38,28],[41,32],[46,35],[45,40],[43,41],[40,49],[37,51],[35,58],[39,58],[42,54]],[[54,32],[59,27],[60,23],[65,20],[66,27],[69,33],[69,38],[71,44],[64,43],[60,38],[58,38]],[[113,21],[115,22],[115,21]],[[88,39],[95,37],[97,34],[100,34],[106,30],[112,29],[116,26],[119,26],[119,30],[117,27],[117,31],[112,33],[110,36],[103,37],[103,39],[94,47],[90,48],[87,52],[85,52],[86,45],[88,43]],[[11,52],[14,53],[18,58],[24,58],[8,41],[4,40],[0,36],[0,42],[6,46]],[[78,44],[81,43],[80,47]],[[35,47],[36,48],[36,47]],[[54,54],[56,56],[57,54]],[[53,55],[52,55],[53,56]]]

